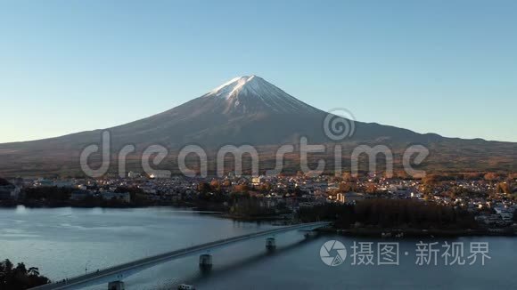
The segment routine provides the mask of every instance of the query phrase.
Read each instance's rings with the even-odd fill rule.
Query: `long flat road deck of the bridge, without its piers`
[[[147,257],[147,258],[135,260],[133,262],[119,264],[117,266],[113,266],[113,267],[106,268],[103,270],[98,270],[98,271],[91,272],[91,273],[85,274],[85,275],[81,275],[81,276],[78,276],[75,278],[70,278],[70,279],[66,280],[66,282],[60,281],[60,282],[50,283],[50,284],[46,284],[43,286],[37,286],[32,289],[47,290],[47,289],[75,288],[75,287],[81,286],[83,284],[87,284],[87,283],[92,282],[97,279],[117,276],[117,274],[123,273],[124,271],[127,271],[127,270],[135,270],[137,268],[149,268],[149,267],[152,267],[161,262],[168,262],[168,261],[171,261],[171,260],[174,260],[177,258],[185,257],[190,254],[205,252],[205,251],[208,251],[210,249],[214,249],[214,248],[217,248],[220,246],[229,246],[231,244],[241,242],[246,239],[260,238],[260,237],[264,237],[264,236],[280,234],[280,233],[283,233],[286,231],[291,231],[291,230],[307,230],[307,229],[314,230],[317,228],[324,227],[324,226],[328,225],[329,223],[330,222],[301,223],[301,224],[282,227],[282,228],[278,228],[278,229],[259,231],[256,233],[242,235],[242,236],[238,236],[238,237],[234,237],[234,238],[223,238],[223,239],[220,239],[220,240],[217,240],[214,242],[209,242],[209,243],[201,244],[201,245],[197,245],[197,246],[190,246],[190,247],[186,247],[184,249],[179,249],[176,251],[171,251],[171,252],[164,253],[164,254],[157,254],[157,255]]]

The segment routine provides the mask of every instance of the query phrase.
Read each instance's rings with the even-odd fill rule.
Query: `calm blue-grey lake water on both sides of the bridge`
[[[53,208],[23,206],[0,209],[0,259],[39,267],[62,279],[122,262],[160,254],[219,238],[271,229],[268,223],[234,222],[216,215],[169,207],[135,209]],[[320,249],[338,240],[348,255],[339,266],[322,262]],[[262,238],[213,251],[213,269],[202,273],[198,257],[157,265],[125,280],[127,289],[176,289],[178,283],[198,289],[488,289],[517,288],[517,239],[479,237],[428,239],[425,243],[488,243],[490,259],[481,265],[417,265],[420,239],[304,238],[300,232],[276,236],[277,249],[267,253]],[[375,265],[352,265],[354,242],[373,242]],[[398,265],[376,265],[377,245],[399,243]],[[365,244],[364,244],[365,245]],[[331,254],[337,253],[331,251]],[[439,254],[442,254],[440,252]],[[432,262],[431,262],[432,263]],[[106,289],[94,286],[90,289]]]

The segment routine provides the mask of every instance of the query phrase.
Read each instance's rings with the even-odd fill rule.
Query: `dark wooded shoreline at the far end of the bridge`
[[[356,223],[366,227],[401,229],[473,229],[472,214],[446,205],[410,199],[367,199],[357,205],[318,205],[300,208],[303,222],[334,221],[348,229]]]

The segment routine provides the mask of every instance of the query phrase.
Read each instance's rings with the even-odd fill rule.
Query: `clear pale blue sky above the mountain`
[[[0,0],[0,142],[125,124],[250,74],[360,121],[517,141],[517,1]]]

